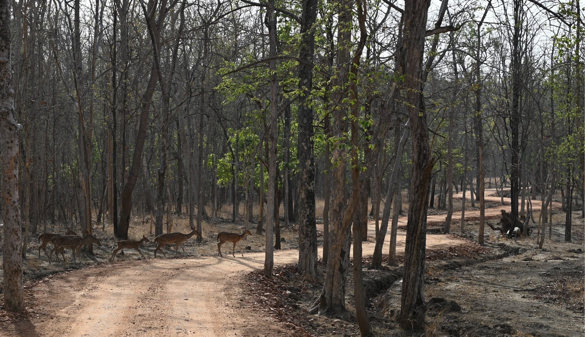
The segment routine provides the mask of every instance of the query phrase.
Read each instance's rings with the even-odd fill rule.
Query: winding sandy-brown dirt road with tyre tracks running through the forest
[[[491,193],[486,190],[486,194]],[[540,207],[539,200],[532,204],[535,209]],[[498,217],[500,209],[509,211],[510,205],[486,209],[486,217]],[[479,217],[479,210],[467,210],[468,217]],[[460,213],[453,214],[455,223],[459,218]],[[400,218],[400,224],[406,221],[406,217]],[[428,221],[445,221],[445,214],[429,216]],[[373,235],[372,221],[369,227]],[[404,251],[405,234],[398,231],[397,252]],[[459,244],[459,239],[427,234],[426,244],[428,248],[452,246]],[[238,277],[262,268],[264,253],[233,258],[228,253],[231,247],[224,247],[225,258],[129,260],[55,276],[26,289],[29,307],[35,314],[30,320],[0,331],[0,335],[273,336],[274,323],[238,300],[238,293],[243,291]],[[364,242],[364,255],[370,255],[373,249],[374,242]],[[275,265],[294,263],[297,258],[296,249],[274,252]]]

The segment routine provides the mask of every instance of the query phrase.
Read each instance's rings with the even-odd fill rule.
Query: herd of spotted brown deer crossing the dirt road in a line
[[[188,239],[194,237],[195,235],[197,235],[197,237],[199,237],[199,238],[201,237],[201,233],[198,232],[197,230],[192,230],[189,234],[167,233],[167,234],[161,234],[161,235],[157,236],[156,238],[154,238],[154,246],[156,246],[156,248],[154,249],[154,258],[156,258],[157,251],[161,251],[163,253],[163,255],[166,257],[167,255],[164,253],[163,250],[161,250],[161,248],[163,248],[166,245],[170,245],[170,244],[176,245],[175,256],[178,255],[179,246],[181,246],[181,248],[183,249],[183,253],[185,254],[185,256],[187,256],[187,253],[185,252],[185,248],[183,246],[183,243],[185,241],[187,241]],[[236,257],[236,255],[235,255],[236,244],[238,244],[238,246],[240,247],[240,253],[242,254],[242,257],[243,257],[244,253],[242,252],[242,246],[240,246],[239,242],[242,241],[244,238],[246,238],[246,235],[252,235],[252,233],[250,233],[250,231],[247,230],[247,228],[244,230],[244,232],[242,234],[229,233],[229,232],[218,233],[217,239],[218,239],[219,256],[223,257],[223,255],[221,253],[221,246],[225,242],[232,242],[233,243],[232,256]],[[113,244],[113,246],[116,246],[116,249],[113,250],[112,257],[109,260],[111,262],[113,262],[116,258],[116,253],[118,253],[119,251],[123,252],[123,249],[125,249],[125,248],[136,249],[136,251],[138,251],[144,259],[146,259],[146,257],[142,253],[142,251],[140,251],[140,246],[146,244],[146,242],[150,242],[150,240],[146,237],[146,235],[142,235],[142,239],[140,239],[138,241],[136,241],[136,240],[116,241]],[[49,256],[49,263],[51,263],[51,256],[53,255],[53,253],[55,253],[55,257],[57,259],[57,262],[60,262],[59,253],[61,253],[61,256],[63,256],[63,262],[65,262],[65,255],[64,255],[65,248],[71,249],[72,255],[73,255],[73,262],[77,263],[77,260],[75,259],[75,255],[79,256],[82,246],[90,245],[90,244],[96,244],[98,246],[102,246],[101,242],[99,242],[99,240],[96,237],[94,237],[94,235],[90,234],[88,231],[85,231],[84,236],[80,236],[71,230],[68,230],[65,235],[44,232],[43,234],[39,235],[39,243],[41,244],[39,246],[39,258],[40,258],[40,250],[43,249],[45,255]],[[53,245],[53,249],[51,249],[51,251],[48,254],[47,254],[47,249],[46,249],[47,244]],[[112,246],[112,248],[113,248],[113,246]]]

